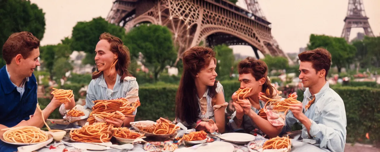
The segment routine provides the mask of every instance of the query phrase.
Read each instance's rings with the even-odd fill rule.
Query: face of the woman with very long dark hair
[[[214,60],[211,60],[208,65],[196,74],[195,80],[206,86],[214,86],[215,78],[218,76],[215,72],[215,68],[215,62]]]

